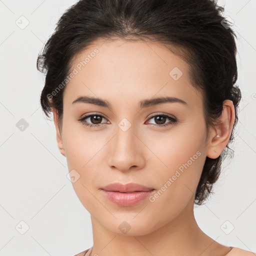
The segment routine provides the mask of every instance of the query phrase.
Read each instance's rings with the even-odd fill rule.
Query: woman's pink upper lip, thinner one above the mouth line
[[[119,191],[119,192],[133,192],[133,191],[150,191],[153,190],[153,187],[146,187],[144,185],[140,185],[137,183],[128,183],[128,184],[121,184],[121,183],[111,183],[104,187],[100,187],[105,191]]]

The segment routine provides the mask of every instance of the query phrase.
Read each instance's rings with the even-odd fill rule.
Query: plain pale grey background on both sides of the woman
[[[54,123],[39,106],[44,76],[36,69],[38,52],[75,2],[0,0],[0,255],[69,256],[92,245],[90,214],[66,177]],[[234,158],[224,161],[215,194],[195,217],[217,242],[256,252],[256,0],[218,4],[238,36],[242,100]]]

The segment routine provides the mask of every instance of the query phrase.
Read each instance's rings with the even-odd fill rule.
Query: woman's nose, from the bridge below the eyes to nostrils
[[[141,142],[142,138],[134,132],[133,125],[126,131],[117,127],[108,151],[108,165],[111,168],[115,167],[120,171],[143,168],[145,145]]]

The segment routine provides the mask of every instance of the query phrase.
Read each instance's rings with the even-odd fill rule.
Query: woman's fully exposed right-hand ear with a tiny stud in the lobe
[[[229,99],[223,101],[222,114],[218,124],[211,129],[207,144],[207,156],[217,158],[228,143],[234,124],[235,111],[233,102]]]

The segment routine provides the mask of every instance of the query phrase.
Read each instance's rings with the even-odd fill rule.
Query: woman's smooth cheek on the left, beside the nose
[[[101,169],[98,165],[102,157],[100,149],[103,150],[106,142],[99,140],[96,133],[85,132],[77,123],[63,121],[63,124],[62,141],[68,171],[73,171],[78,177],[72,185],[80,201],[87,205],[94,198],[89,191],[97,186],[99,177],[96,170]]]

